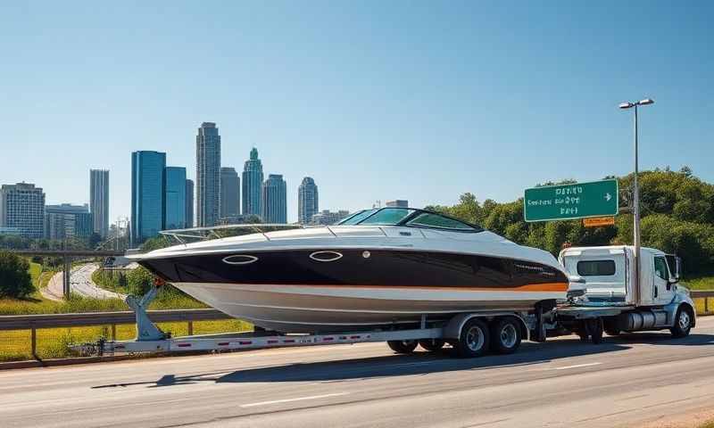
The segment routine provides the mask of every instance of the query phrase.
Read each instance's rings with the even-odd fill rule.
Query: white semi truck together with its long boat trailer
[[[518,350],[521,341],[545,342],[549,337],[577,334],[583,341],[602,342],[603,333],[669,330],[685,337],[696,324],[689,291],[679,284],[681,259],[642,248],[635,275],[635,248],[627,245],[571,247],[559,261],[569,276],[567,300],[546,300],[535,310],[465,311],[451,317],[421,317],[419,325],[394,325],[370,331],[326,334],[275,332],[228,333],[170,337],[146,314],[154,287],[141,300],[127,302],[137,319],[137,339],[104,341],[74,347],[83,354],[115,352],[183,352],[248,350],[336,343],[387,342],[397,353],[440,350],[450,344],[459,357]]]

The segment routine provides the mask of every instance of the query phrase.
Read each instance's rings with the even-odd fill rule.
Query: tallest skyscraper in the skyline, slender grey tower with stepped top
[[[196,226],[213,226],[220,215],[220,135],[216,124],[203,122],[195,136]]]

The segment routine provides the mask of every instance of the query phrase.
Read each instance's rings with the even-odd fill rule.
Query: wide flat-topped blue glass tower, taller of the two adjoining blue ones
[[[131,239],[143,243],[163,229],[166,153],[131,153]]]

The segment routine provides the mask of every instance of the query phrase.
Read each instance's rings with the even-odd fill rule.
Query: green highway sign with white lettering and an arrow
[[[526,221],[606,217],[618,210],[618,180],[544,185],[526,189],[523,198]]]

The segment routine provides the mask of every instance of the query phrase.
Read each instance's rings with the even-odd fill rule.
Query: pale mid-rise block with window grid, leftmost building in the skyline
[[[0,187],[0,228],[28,238],[45,235],[45,193],[29,183]]]

